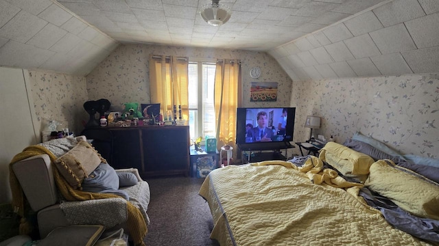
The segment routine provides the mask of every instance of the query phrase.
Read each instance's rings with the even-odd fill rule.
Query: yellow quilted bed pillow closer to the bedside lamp
[[[329,159],[327,159],[327,154]],[[342,146],[340,143],[329,142],[320,151],[319,158],[338,169],[342,174],[368,174],[374,159]]]

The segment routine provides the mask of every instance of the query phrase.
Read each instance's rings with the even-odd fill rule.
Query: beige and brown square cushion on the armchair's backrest
[[[81,188],[84,178],[88,177],[102,159],[96,150],[86,141],[80,141],[69,152],[56,159],[55,165],[64,179],[73,187]]]

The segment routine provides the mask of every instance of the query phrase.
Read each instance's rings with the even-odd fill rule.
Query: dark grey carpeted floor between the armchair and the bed
[[[212,215],[209,205],[198,195],[203,180],[182,176],[146,179],[151,190],[146,245],[219,245],[209,238]]]

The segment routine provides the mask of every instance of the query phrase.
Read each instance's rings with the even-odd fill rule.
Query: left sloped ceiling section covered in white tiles
[[[0,0],[0,66],[84,76],[119,42],[50,0]]]

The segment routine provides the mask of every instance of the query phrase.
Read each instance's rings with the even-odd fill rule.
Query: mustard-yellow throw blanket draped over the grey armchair
[[[25,148],[23,152],[16,154],[16,156],[14,156],[9,166],[10,187],[12,191],[12,206],[14,206],[16,210],[18,210],[17,213],[19,213],[19,215],[22,217],[21,225],[20,225],[21,234],[23,234],[25,230],[25,223],[26,223],[24,219],[25,195],[23,194],[23,190],[21,189],[19,180],[17,180],[14,172],[12,171],[12,163],[16,163],[17,161],[21,161],[39,154],[49,155],[49,158],[52,163],[56,160],[56,156],[52,152],[44,148],[43,146],[29,146]],[[84,201],[84,200],[119,197],[117,195],[112,195],[109,193],[91,193],[91,192],[78,191],[76,189],[73,189],[67,183],[67,181],[64,180],[64,178],[62,178],[62,176],[59,174],[58,169],[53,168],[53,170],[54,170],[54,178],[58,190],[67,201]],[[127,210],[128,210],[128,221],[127,221],[128,230],[130,231],[130,234],[133,237],[134,243],[136,245],[145,245],[145,243],[143,243],[143,238],[147,234],[147,226],[145,223],[145,219],[143,218],[143,215],[141,214],[139,208],[132,205],[128,201],[127,201]]]

